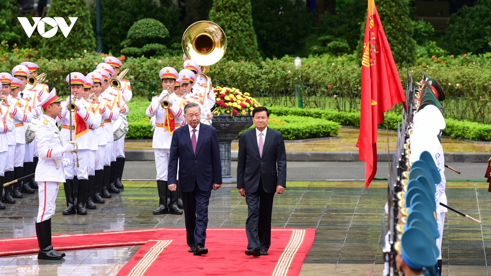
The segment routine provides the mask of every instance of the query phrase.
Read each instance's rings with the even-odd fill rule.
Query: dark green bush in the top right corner
[[[442,42],[454,54],[491,51],[491,0],[478,0],[473,7],[464,5],[450,16]]]

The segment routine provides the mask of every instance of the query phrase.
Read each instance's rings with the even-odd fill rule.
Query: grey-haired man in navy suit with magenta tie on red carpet
[[[220,150],[217,130],[200,124],[201,110],[197,104],[186,105],[184,118],[188,124],[174,131],[170,143],[168,188],[170,191],[177,188],[179,162],[188,252],[201,255],[208,253],[205,240],[211,190],[221,186]]]

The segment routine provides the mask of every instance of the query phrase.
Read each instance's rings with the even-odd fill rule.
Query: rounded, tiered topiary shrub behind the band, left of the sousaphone
[[[128,30],[127,39],[121,43],[126,47],[121,54],[135,57],[174,54],[164,45],[168,36],[169,31],[161,22],[152,18],[139,20]]]

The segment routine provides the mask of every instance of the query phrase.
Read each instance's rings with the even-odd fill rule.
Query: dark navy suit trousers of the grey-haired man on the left
[[[205,246],[206,228],[208,227],[208,205],[211,191],[201,191],[198,183],[194,191],[181,192],[186,222],[186,240],[189,247],[202,244]]]

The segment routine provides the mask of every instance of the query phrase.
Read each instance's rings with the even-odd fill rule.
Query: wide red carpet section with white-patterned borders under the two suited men
[[[295,276],[314,242],[315,229],[273,228],[268,256],[246,256],[246,230],[208,228],[209,253],[188,253],[186,230],[159,229],[119,271],[118,276],[171,275],[274,275]]]

